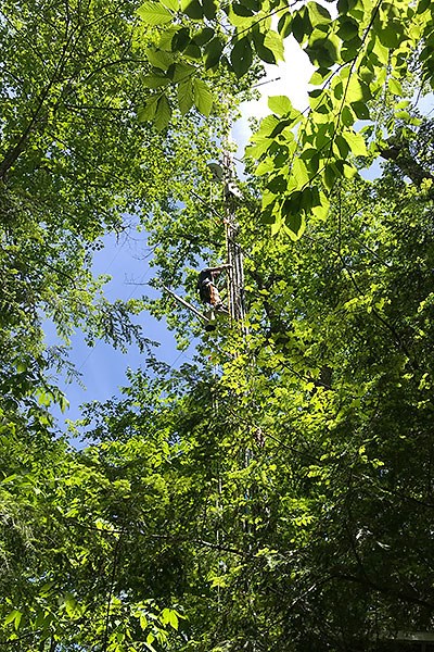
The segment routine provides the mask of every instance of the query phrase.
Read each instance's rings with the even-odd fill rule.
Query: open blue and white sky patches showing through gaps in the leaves
[[[241,106],[242,118],[233,128],[233,139],[239,146],[238,156],[243,155],[244,147],[250,137],[248,117],[263,117],[269,113],[267,97],[272,95],[288,95],[293,103],[304,109],[307,104],[307,82],[311,75],[311,66],[306,54],[301,52],[297,43],[288,39],[285,49],[286,63],[277,66],[267,66],[268,83],[260,86],[263,96],[255,102],[246,102]],[[278,80],[276,78],[279,77]],[[239,173],[241,171],[239,170]],[[149,293],[151,288],[143,285],[153,275],[146,258],[146,234],[131,233],[128,236],[107,236],[104,238],[104,248],[94,254],[93,272],[108,274],[112,280],[105,286],[105,294],[110,301],[116,299],[130,299]],[[154,294],[155,296],[155,294]],[[168,330],[164,321],[157,322],[149,313],[141,313],[139,323],[145,337],[159,342],[155,349],[157,358],[170,366],[178,367],[192,360],[194,342],[187,351],[176,348],[174,334]],[[55,343],[53,328],[47,327],[49,343]],[[81,374],[81,387],[77,381],[66,385],[59,378],[60,387],[65,391],[69,401],[69,409],[65,414],[55,411],[59,425],[64,429],[67,419],[75,421],[80,417],[80,405],[86,401],[104,401],[112,396],[119,394],[119,387],[126,384],[125,372],[128,367],[137,369],[142,364],[143,355],[137,347],[123,354],[111,346],[99,341],[93,348],[87,347],[81,334],[73,337],[71,361]]]

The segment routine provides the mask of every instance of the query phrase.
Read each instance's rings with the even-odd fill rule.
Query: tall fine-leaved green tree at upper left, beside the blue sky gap
[[[1,383],[20,402],[47,396],[48,366],[67,365],[61,349],[47,350],[43,318],[66,346],[82,328],[89,343],[146,348],[133,324],[143,304],[107,302],[92,252],[140,214],[171,213],[207,174],[216,142],[199,115],[159,136],[140,125],[152,29],[133,3],[5,2],[0,33]]]

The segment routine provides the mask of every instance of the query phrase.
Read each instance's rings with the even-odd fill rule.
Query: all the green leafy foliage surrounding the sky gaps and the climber
[[[391,100],[411,66],[432,78],[432,8],[337,12],[3,3],[5,650],[386,651],[398,630],[433,629],[432,122]],[[248,150],[243,333],[204,334],[168,297],[110,304],[91,254],[131,215],[155,285],[192,302],[199,265],[225,258],[207,161],[290,33],[326,87],[306,116],[271,98]],[[356,117],[375,117],[365,136]],[[375,152],[386,163],[363,180]],[[65,398],[49,372],[68,362],[43,319],[66,344],[80,327],[145,351],[130,319],[144,306],[181,346],[197,338],[196,360],[174,371],[149,353],[119,398],[84,408],[76,451],[50,413]]]

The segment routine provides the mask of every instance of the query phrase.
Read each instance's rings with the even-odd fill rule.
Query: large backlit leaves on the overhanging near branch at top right
[[[397,118],[411,121],[406,80],[414,67],[422,85],[433,87],[432,3],[340,0],[335,10],[332,18],[315,1],[289,7],[280,0],[180,5],[162,0],[139,10],[144,23],[159,28],[156,51],[170,65],[154,65],[162,85],[178,86],[182,112],[194,102],[191,89],[200,71],[207,71],[213,85],[222,68],[243,77],[257,59],[278,63],[289,36],[304,49],[315,66],[308,109],[301,113],[288,97],[269,98],[272,114],[261,121],[246,150],[258,163],[256,174],[265,177],[263,223],[275,230],[284,227],[294,239],[303,234],[306,216],[327,215],[334,185],[354,177],[358,160],[379,155],[385,137],[379,102],[395,104],[387,125],[393,133]],[[174,71],[186,65],[187,78],[178,77]],[[161,120],[158,110],[144,117],[155,116]],[[360,121],[369,122],[361,126]]]

